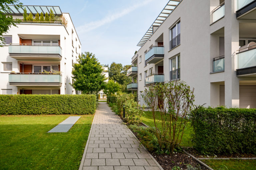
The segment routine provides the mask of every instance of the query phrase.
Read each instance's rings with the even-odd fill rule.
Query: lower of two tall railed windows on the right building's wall
[[[170,59],[170,80],[180,79],[180,55]]]

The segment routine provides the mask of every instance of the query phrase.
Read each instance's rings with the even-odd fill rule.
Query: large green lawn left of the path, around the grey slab
[[[69,116],[0,116],[0,169],[78,169],[94,115],[66,133],[47,133]]]

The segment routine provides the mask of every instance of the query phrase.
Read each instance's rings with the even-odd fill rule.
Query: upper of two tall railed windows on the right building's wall
[[[180,22],[170,29],[170,50],[180,44]]]

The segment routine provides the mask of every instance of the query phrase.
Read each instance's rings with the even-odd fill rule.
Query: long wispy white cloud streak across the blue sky
[[[94,30],[98,27],[101,27],[105,24],[108,24],[108,23],[111,23],[112,21],[118,19],[118,18],[121,18],[122,16],[124,15],[127,15],[129,14],[130,12],[132,12],[133,10],[143,6],[143,5],[146,5],[148,4],[149,2],[151,2],[152,0],[144,0],[140,3],[136,3],[128,8],[125,8],[125,9],[122,9],[121,11],[119,12],[116,12],[114,14],[111,14],[111,15],[108,15],[106,17],[104,17],[103,19],[101,20],[98,20],[98,21],[93,21],[93,22],[90,22],[90,23],[85,23],[84,25],[82,26],[79,26],[77,27],[77,31],[79,33],[83,33],[83,32],[88,32],[90,30]]]

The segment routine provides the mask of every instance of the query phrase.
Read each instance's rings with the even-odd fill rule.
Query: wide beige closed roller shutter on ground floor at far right
[[[239,107],[256,108],[256,85],[239,86]]]

